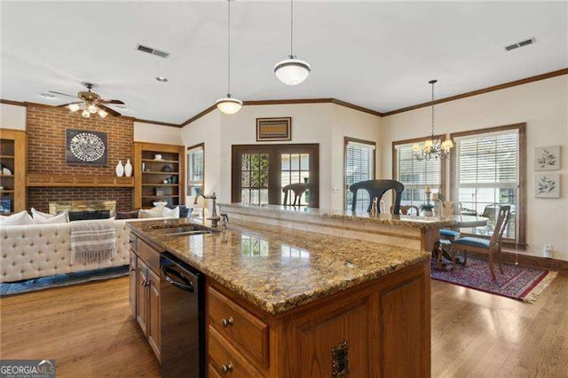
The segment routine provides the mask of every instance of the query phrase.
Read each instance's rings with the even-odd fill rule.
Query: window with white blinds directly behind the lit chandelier
[[[437,136],[444,141],[444,136]],[[444,193],[446,164],[439,159],[418,161],[412,145],[426,138],[400,140],[392,143],[392,177],[405,185],[401,205],[420,206],[426,201],[426,187],[431,193]]]

